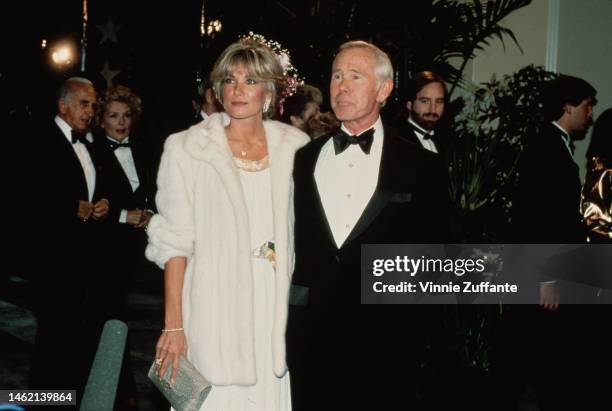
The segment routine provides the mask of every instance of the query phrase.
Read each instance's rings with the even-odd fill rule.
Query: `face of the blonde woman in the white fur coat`
[[[223,80],[223,108],[235,119],[262,117],[270,93],[266,82],[248,75],[244,64],[237,64]]]

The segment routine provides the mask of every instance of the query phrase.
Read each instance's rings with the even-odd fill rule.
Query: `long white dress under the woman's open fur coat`
[[[249,215],[251,248],[255,250],[268,241],[274,241],[270,169],[267,167],[267,159],[261,163],[236,159],[236,165],[240,171],[240,182]],[[277,378],[272,370],[274,269],[266,258],[253,257],[251,261],[257,383],[251,386],[213,386],[201,411],[291,410],[289,373]]]

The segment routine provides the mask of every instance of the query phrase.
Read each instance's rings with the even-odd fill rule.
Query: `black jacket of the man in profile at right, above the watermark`
[[[544,125],[527,141],[519,163],[512,225],[520,243],[580,244],[586,241],[580,213],[581,183],[562,132]]]

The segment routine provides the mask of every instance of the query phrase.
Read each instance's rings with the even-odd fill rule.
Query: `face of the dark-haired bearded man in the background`
[[[440,83],[429,83],[408,101],[406,108],[412,121],[425,130],[433,130],[444,114],[444,87]]]

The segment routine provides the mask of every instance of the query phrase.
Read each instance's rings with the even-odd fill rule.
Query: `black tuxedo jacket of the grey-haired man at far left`
[[[99,245],[100,223],[77,217],[79,201],[89,201],[85,173],[72,144],[54,121],[36,126],[28,152],[32,154],[28,172],[31,185],[27,208],[31,224],[31,238],[41,242],[37,259],[42,264],[60,262],[65,269],[57,275],[83,270],[93,263]],[[109,185],[101,156],[88,144],[89,155],[96,169],[95,191],[92,201],[109,199]],[[112,207],[112,203],[110,207]],[[44,263],[43,263],[44,261]],[[39,267],[37,267],[39,268]]]

